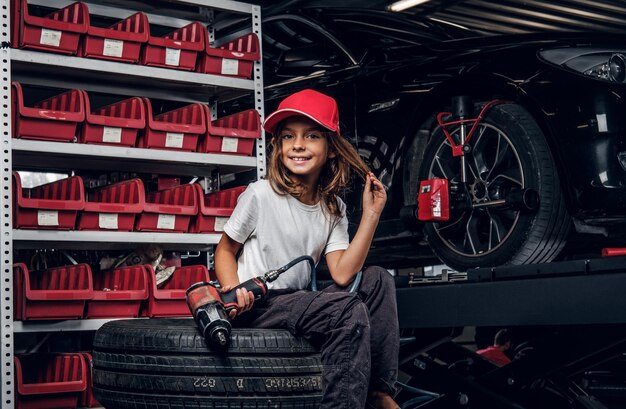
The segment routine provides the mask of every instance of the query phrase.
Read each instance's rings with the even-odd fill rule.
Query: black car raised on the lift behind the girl
[[[341,8],[265,16],[262,29],[267,112],[299,89],[332,95],[388,188],[377,257],[428,243],[465,271],[548,262],[580,237],[585,251],[624,243],[625,36],[479,36]],[[449,216],[419,222],[431,179],[447,181]]]

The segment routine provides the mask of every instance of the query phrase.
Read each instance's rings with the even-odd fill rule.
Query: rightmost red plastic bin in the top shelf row
[[[227,75],[231,77],[252,78],[252,68],[259,61],[261,52],[259,37],[250,33],[219,47],[209,45],[202,53],[197,71],[204,74]]]

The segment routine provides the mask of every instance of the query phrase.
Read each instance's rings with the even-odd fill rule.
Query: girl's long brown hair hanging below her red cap
[[[306,187],[291,178],[291,172],[280,160],[282,139],[281,126],[270,141],[269,165],[267,179],[272,189],[278,194],[289,194],[300,197],[306,192]],[[323,132],[328,143],[328,154],[335,153],[333,158],[328,157],[320,174],[318,182],[318,194],[320,200],[333,216],[341,217],[341,211],[337,204],[337,196],[344,193],[352,182],[353,173],[365,180],[369,167],[357,150],[347,139],[336,132]]]

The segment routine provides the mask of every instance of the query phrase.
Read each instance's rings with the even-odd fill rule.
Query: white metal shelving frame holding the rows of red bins
[[[62,8],[74,0],[30,0],[33,5]],[[259,6],[230,0],[172,0],[153,4],[150,1],[87,0],[90,14],[106,17],[125,17],[134,11],[143,11],[151,23],[182,27],[192,20],[209,25],[209,38],[215,41],[211,23],[214,13],[246,14],[250,17],[250,31],[261,37],[261,10]],[[177,10],[184,5],[184,12]],[[39,51],[8,48],[10,43],[10,0],[0,0],[0,65],[2,76],[2,118],[0,152],[0,191],[2,192],[0,220],[2,223],[0,251],[2,252],[2,329],[0,346],[2,367],[0,406],[15,407],[14,334],[41,332],[93,331],[110,319],[60,320],[20,322],[13,320],[13,250],[14,249],[118,249],[127,243],[158,243],[167,249],[205,251],[218,242],[219,234],[177,234],[149,232],[98,232],[17,230],[12,228],[11,174],[14,168],[36,171],[71,168],[102,171],[149,172],[164,175],[210,177],[243,170],[256,169],[257,176],[265,174],[265,140],[256,143],[256,157],[219,154],[160,151],[156,149],[111,147],[61,142],[43,142],[12,139],[11,81],[30,85],[80,88],[124,96],[146,96],[171,101],[209,103],[253,95],[255,108],[264,117],[262,63],[254,65],[251,80],[199,74],[174,69],[147,67],[113,61],[65,56]],[[192,7],[189,7],[192,6]],[[189,10],[195,10],[190,12]],[[193,14],[195,13],[195,14]],[[54,73],[54,74],[51,74]],[[214,112],[214,111],[213,111]],[[213,113],[215,117],[215,113]],[[127,247],[127,245],[126,245]]]

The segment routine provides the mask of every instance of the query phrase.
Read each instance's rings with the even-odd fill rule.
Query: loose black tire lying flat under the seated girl
[[[316,408],[318,351],[285,330],[233,329],[227,352],[193,319],[119,320],[94,338],[93,385],[107,409]]]

